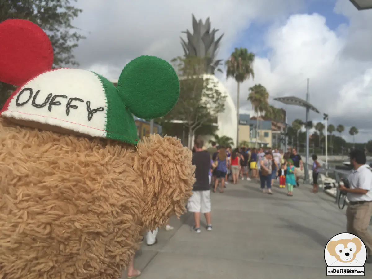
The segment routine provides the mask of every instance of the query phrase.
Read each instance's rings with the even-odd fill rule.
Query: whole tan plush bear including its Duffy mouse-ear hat
[[[141,232],[192,195],[191,151],[139,140],[133,118],[166,115],[179,80],[151,56],[129,62],[117,87],[52,63],[38,26],[0,24],[0,80],[18,86],[0,112],[0,278],[117,279]]]

